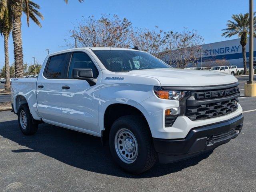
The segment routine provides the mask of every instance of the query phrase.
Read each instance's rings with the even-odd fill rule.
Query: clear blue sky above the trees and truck
[[[24,62],[28,65],[36,60],[42,64],[50,53],[67,49],[64,39],[70,38],[69,30],[81,21],[82,16],[100,18],[101,14],[117,14],[127,18],[132,26],[164,31],[182,32],[184,27],[197,30],[204,43],[213,43],[238,38],[222,37],[222,29],[232,14],[246,13],[249,0],[33,0],[41,6],[44,15],[42,28],[26,17],[22,17],[22,40]],[[254,4],[256,10],[256,4]],[[13,40],[9,40],[10,64],[14,62]],[[0,36],[0,68],[4,66],[4,39]]]

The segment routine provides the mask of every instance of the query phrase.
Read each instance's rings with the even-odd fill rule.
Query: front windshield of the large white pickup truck
[[[132,50],[94,50],[102,64],[112,72],[172,68],[154,56]]]

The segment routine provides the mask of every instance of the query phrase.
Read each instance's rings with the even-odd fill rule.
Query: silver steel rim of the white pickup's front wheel
[[[133,163],[138,156],[138,142],[134,134],[125,128],[116,132],[115,149],[118,157],[125,163]]]

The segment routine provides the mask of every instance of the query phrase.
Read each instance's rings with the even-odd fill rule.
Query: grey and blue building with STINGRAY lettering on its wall
[[[246,61],[249,66],[249,38],[246,44]],[[256,38],[254,38],[254,48],[256,48]],[[202,60],[201,60],[202,56]],[[168,56],[165,61],[170,63]],[[242,46],[240,45],[240,38],[234,40],[221,41],[216,43],[202,45],[202,51],[198,56],[198,66],[208,66],[208,62],[214,60],[225,59],[227,64],[236,65],[238,68],[243,68],[243,54]],[[254,51],[254,66],[256,66],[256,50]]]

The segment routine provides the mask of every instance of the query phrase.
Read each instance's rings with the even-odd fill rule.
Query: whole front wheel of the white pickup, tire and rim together
[[[156,162],[148,124],[139,116],[118,118],[111,127],[109,143],[114,161],[127,172],[140,174]]]

